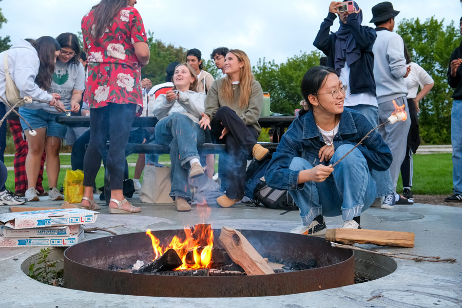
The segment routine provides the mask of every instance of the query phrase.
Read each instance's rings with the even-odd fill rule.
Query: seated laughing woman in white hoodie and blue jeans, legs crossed
[[[191,209],[190,178],[204,175],[197,148],[204,143],[204,130],[199,126],[204,112],[205,94],[196,92],[197,75],[189,64],[177,65],[173,76],[175,87],[156,99],[152,113],[156,124],[156,143],[170,146],[171,190],[179,211]]]

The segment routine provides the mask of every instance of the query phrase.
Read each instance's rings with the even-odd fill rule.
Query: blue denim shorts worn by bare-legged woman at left
[[[28,109],[21,107],[19,110],[23,118],[30,124],[32,129],[46,128],[47,136],[64,139],[67,126],[55,121],[56,117],[62,117],[66,113],[50,113],[43,109]],[[23,130],[30,130],[29,126],[20,118]]]

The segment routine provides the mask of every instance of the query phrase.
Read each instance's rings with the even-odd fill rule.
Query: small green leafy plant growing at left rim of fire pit
[[[38,282],[57,285],[56,280],[64,277],[64,271],[63,269],[56,270],[56,262],[51,262],[51,260],[48,260],[49,252],[49,247],[40,249],[40,254],[38,254],[38,262],[37,264],[32,263],[29,265],[29,273],[27,276],[37,280]],[[36,268],[35,265],[38,264],[43,265],[37,266],[38,268]]]

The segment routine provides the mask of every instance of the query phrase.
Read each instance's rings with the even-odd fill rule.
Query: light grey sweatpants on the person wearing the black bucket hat
[[[393,182],[393,190],[396,194],[396,183],[398,182],[399,170],[402,161],[406,156],[406,144],[408,141],[409,127],[411,127],[411,119],[409,118],[409,107],[405,96],[394,100],[398,106],[406,105],[406,121],[396,122],[395,124],[385,124],[380,126],[378,132],[382,136],[383,141],[387,143],[393,155],[393,162],[390,166],[390,175]],[[387,101],[378,104],[379,124],[386,122],[388,117],[395,111],[392,101]]]

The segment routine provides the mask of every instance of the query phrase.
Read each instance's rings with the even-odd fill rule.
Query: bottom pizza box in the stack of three
[[[66,237],[5,238],[0,235],[0,247],[67,247],[80,243],[83,237],[83,226],[80,226],[79,233]]]

